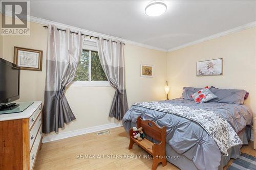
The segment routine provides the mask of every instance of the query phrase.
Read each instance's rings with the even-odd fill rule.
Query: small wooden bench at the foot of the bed
[[[137,118],[137,128],[142,127],[143,132],[146,136],[152,137],[159,143],[153,143],[152,141],[144,138],[141,141],[133,138],[133,129],[130,129],[130,144],[129,150],[133,148],[133,144],[137,143],[147,153],[153,156],[152,170],[157,168],[157,165],[162,162],[162,165],[167,164],[165,159],[165,138],[166,138],[166,127],[159,127],[152,120],[142,120],[140,117]]]

